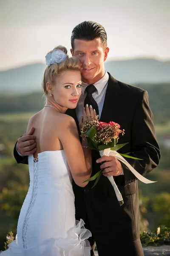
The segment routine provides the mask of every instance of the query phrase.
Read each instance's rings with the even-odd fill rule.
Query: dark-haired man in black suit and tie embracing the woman
[[[142,160],[126,160],[141,175],[146,175],[159,164],[160,151],[156,141],[153,115],[146,91],[120,81],[104,68],[109,48],[107,34],[102,25],[84,21],[78,24],[71,34],[71,54],[79,58],[82,73],[82,95],[77,108],[67,114],[77,122],[82,115],[84,102],[91,100],[102,122],[117,122],[125,129],[119,143],[128,144],[120,153],[132,152]],[[88,87],[89,84],[90,85]],[[89,94],[92,97],[89,98]],[[89,103],[90,104],[90,103]],[[97,105],[96,105],[97,104]],[[14,156],[18,163],[27,163],[27,155],[36,151],[34,128],[18,139]],[[17,148],[17,150],[16,150]],[[20,156],[17,151],[25,157]],[[96,160],[99,159],[96,163]],[[97,185],[93,182],[85,188],[73,182],[76,219],[82,218],[96,241],[99,256],[143,256],[139,236],[139,197],[136,177],[115,157],[102,157],[92,152],[92,175],[105,168]],[[107,161],[102,164],[102,161]],[[114,180],[122,193],[124,204],[119,206],[115,192],[107,176]],[[146,185],[148,186],[148,185]],[[91,251],[91,255],[93,252]]]

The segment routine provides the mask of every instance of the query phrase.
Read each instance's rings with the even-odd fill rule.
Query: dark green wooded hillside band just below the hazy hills
[[[166,124],[170,120],[170,84],[136,84],[147,90],[150,108],[156,124]],[[8,102],[8,104],[7,104]],[[42,92],[26,95],[0,96],[0,113],[37,112],[43,108],[45,99]]]

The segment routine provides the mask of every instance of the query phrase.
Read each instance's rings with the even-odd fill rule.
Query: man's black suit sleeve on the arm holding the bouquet
[[[146,175],[156,168],[160,160],[159,145],[156,141],[156,132],[153,125],[153,114],[149,107],[147,91],[142,91],[136,105],[131,127],[131,151],[133,157],[142,160],[126,158],[133,168],[141,175]],[[127,184],[137,180],[136,176],[122,164],[124,179]]]

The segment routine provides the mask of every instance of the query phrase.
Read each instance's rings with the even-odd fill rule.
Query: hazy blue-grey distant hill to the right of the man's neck
[[[133,59],[108,61],[105,69],[117,80],[128,84],[170,82],[170,61]]]

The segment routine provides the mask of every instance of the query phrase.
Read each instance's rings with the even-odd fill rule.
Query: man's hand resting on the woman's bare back
[[[31,127],[31,129],[23,134],[17,141],[17,151],[23,156],[28,156],[30,154],[34,154],[37,151],[36,148],[36,136],[34,136],[35,128]]]

